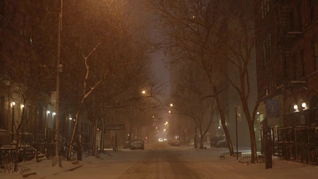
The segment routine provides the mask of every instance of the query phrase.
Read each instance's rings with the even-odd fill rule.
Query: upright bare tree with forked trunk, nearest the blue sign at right
[[[251,162],[253,163],[256,160],[254,121],[259,103],[266,93],[268,78],[264,79],[263,86],[259,90],[260,93],[257,95],[257,100],[251,107],[249,97],[251,90],[254,89],[251,89],[250,71],[255,68],[251,66],[253,64],[255,41],[254,13],[252,10],[248,10],[251,4],[244,4],[240,0],[229,1],[233,2],[233,5],[229,6],[230,10],[227,13],[228,18],[226,19],[228,27],[224,30],[223,34],[224,37],[226,36],[223,38],[224,48],[228,48],[229,50],[223,55],[225,56],[224,60],[229,63],[231,72],[221,71],[221,73],[225,75],[231,86],[239,93],[243,112],[248,124],[252,154]],[[266,64],[263,69],[265,74],[268,74],[270,70],[270,65],[268,64]],[[239,80],[237,80],[238,78]]]

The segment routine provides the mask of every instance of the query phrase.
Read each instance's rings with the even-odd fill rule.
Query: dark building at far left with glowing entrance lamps
[[[27,120],[23,134],[44,134],[54,119],[48,113],[52,54],[56,54],[54,0],[0,0],[0,139],[11,143],[14,121]],[[24,114],[22,116],[22,109]],[[53,128],[53,123],[51,122]],[[14,139],[13,139],[14,140]]]

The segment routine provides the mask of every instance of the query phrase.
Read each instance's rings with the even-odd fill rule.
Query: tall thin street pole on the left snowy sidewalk
[[[56,166],[59,163],[59,167],[62,167],[62,160],[60,156],[60,73],[62,72],[62,65],[60,64],[61,56],[61,31],[62,31],[62,8],[63,0],[61,0],[60,12],[59,12],[59,29],[58,29],[58,58],[57,58],[57,78],[56,78],[56,131],[55,131],[55,157],[53,157],[52,166]]]

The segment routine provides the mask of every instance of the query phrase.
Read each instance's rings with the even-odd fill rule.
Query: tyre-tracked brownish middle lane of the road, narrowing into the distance
[[[189,167],[196,161],[187,158],[178,147],[161,143],[143,152],[143,158],[118,179],[201,179]]]

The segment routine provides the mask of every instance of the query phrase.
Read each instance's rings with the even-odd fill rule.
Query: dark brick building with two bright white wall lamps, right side
[[[318,0],[255,0],[254,7],[258,94],[267,79],[258,121],[272,127],[275,153],[304,161],[301,151],[317,151],[292,143],[300,141],[297,131],[306,129],[311,136],[310,128],[318,125]]]

